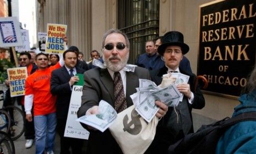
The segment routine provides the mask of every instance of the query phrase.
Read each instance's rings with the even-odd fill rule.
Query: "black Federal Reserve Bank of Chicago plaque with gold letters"
[[[205,92],[237,98],[255,64],[256,1],[226,0],[200,5],[198,75]]]

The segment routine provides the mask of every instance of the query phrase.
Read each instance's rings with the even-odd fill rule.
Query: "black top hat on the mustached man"
[[[178,31],[169,31],[162,37],[162,45],[157,48],[157,52],[163,56],[165,48],[168,46],[180,46],[182,54],[186,54],[189,51],[189,46],[184,43],[183,34]]]

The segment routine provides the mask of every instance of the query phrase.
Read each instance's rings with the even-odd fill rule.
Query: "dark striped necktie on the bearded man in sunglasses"
[[[115,72],[114,95],[116,98],[115,109],[117,113],[119,113],[127,108],[126,96],[124,95],[124,90],[123,90],[123,81],[121,78],[121,74],[119,72]]]

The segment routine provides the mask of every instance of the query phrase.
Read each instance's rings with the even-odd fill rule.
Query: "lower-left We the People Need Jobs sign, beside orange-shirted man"
[[[28,77],[26,67],[8,68],[10,97],[25,95],[25,80]]]

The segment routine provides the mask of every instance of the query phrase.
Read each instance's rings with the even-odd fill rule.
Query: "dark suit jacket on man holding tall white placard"
[[[83,74],[84,71],[76,68],[77,73]],[[51,78],[51,93],[57,96],[56,101],[56,114],[57,119],[67,120],[68,108],[72,90],[69,86],[71,76],[65,66],[53,70]]]

